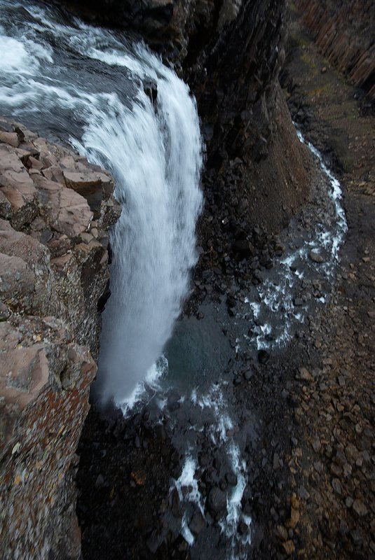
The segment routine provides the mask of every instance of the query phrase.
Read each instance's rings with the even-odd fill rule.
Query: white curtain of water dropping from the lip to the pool
[[[112,295],[103,314],[98,379],[102,398],[118,404],[153,367],[171,335],[196,262],[201,204],[196,106],[175,73],[144,48],[142,56],[144,71],[157,83],[156,111],[139,90],[139,104],[124,108],[108,136],[100,134],[102,122],[83,134],[88,158],[98,153],[102,163],[109,139],[111,151],[122,155],[112,167],[115,195],[125,204],[111,235]]]

